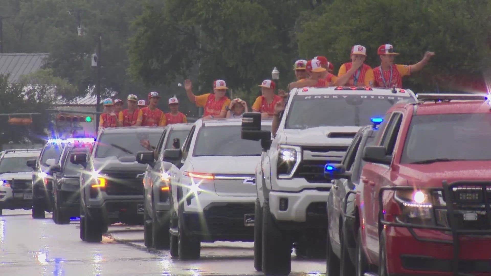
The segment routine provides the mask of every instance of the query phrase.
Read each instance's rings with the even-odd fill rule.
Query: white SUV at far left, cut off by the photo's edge
[[[32,168],[28,159],[37,158],[41,149],[9,149],[0,152],[0,215],[2,209],[31,209]]]

